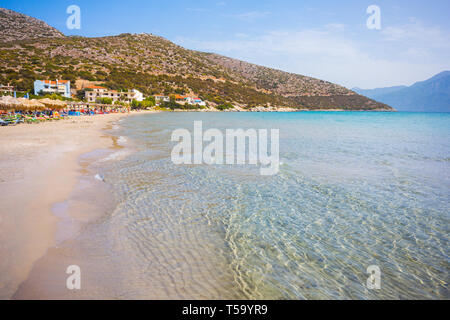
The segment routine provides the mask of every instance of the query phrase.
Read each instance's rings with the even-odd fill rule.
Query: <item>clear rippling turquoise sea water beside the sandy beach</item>
[[[197,120],[280,129],[280,172],[173,164]],[[91,231],[117,297],[450,298],[450,114],[161,113],[114,134],[135,151],[102,165],[118,206]]]

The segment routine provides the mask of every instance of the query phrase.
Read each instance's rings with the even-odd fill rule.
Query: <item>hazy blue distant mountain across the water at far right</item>
[[[370,99],[388,104],[398,111],[450,112],[450,71],[416,82],[410,87],[377,89],[353,88]]]

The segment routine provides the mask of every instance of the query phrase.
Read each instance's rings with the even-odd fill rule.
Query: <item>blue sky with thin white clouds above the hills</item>
[[[66,27],[69,5],[81,29]],[[369,5],[381,29],[369,30]],[[433,0],[0,0],[64,34],[153,33],[189,49],[374,88],[410,85],[450,70],[450,1]]]

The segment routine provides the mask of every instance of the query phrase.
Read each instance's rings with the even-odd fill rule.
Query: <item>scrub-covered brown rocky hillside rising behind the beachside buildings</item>
[[[19,90],[30,90],[35,79],[85,79],[147,95],[190,92],[212,104],[392,110],[330,82],[187,50],[151,34],[65,37],[33,18],[27,19],[33,31],[20,34],[23,19],[11,12],[0,20],[0,28],[8,21],[16,39],[0,43],[0,83]]]

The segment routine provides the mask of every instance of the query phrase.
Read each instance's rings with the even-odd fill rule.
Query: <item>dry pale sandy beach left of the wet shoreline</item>
[[[55,246],[59,218],[52,206],[71,194],[80,155],[113,146],[102,130],[128,115],[0,128],[0,299],[10,299],[33,264]]]

